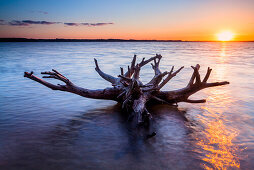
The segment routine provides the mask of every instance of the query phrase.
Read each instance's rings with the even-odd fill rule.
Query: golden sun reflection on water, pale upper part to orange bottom
[[[225,72],[224,72],[225,73]],[[201,107],[203,115],[199,115],[199,120],[205,128],[202,132],[202,139],[196,138],[196,145],[205,155],[202,160],[204,169],[238,169],[239,146],[232,141],[239,134],[239,131],[226,125],[228,120],[225,112],[232,106],[234,100],[227,91],[221,88],[209,89],[210,97],[207,99],[207,106]],[[200,152],[200,151],[199,151]]]

